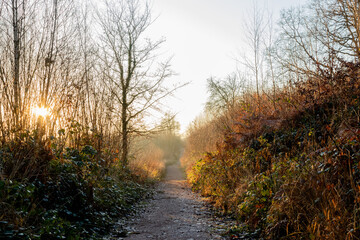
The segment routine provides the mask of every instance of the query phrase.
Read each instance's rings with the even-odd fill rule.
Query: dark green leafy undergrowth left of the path
[[[98,239],[150,194],[109,151],[57,146],[27,132],[1,147],[1,239]]]

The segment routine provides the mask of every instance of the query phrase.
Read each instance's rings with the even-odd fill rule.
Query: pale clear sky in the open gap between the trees
[[[267,4],[274,21],[280,10],[303,4],[301,0],[153,0],[157,20],[149,29],[153,40],[165,37],[165,55],[173,56],[173,80],[190,82],[167,105],[177,113],[184,132],[198,116],[207,99],[206,80],[225,77],[235,71],[239,52],[244,48],[244,19],[252,2]]]

